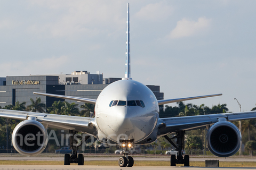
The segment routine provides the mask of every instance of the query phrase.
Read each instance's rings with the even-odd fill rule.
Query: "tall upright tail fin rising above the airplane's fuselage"
[[[131,78],[131,64],[130,64],[130,14],[129,3],[127,3],[127,29],[126,29],[126,63],[125,63],[125,78]]]

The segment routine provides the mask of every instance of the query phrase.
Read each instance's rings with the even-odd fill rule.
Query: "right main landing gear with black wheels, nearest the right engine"
[[[189,156],[185,155],[183,158],[182,149],[184,150],[185,144],[185,131],[177,131],[176,135],[173,138],[167,137],[164,135],[164,138],[171,143],[172,146],[176,148],[177,158],[175,155],[171,155],[171,166],[176,166],[176,164],[184,164],[184,166],[189,166]],[[172,139],[177,138],[177,145],[173,143]]]

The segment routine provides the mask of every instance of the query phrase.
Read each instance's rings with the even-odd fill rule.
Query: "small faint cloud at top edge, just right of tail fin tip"
[[[173,7],[167,6],[164,2],[159,2],[143,6],[135,16],[142,20],[157,21],[166,19],[173,11]]]

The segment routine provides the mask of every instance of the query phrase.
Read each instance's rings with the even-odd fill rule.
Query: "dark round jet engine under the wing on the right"
[[[226,118],[219,118],[219,122],[209,128],[206,135],[207,147],[215,156],[228,157],[236,154],[242,142],[241,132]]]

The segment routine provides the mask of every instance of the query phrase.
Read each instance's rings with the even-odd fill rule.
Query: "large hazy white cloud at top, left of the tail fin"
[[[81,35],[95,36],[108,32],[110,28],[125,27],[121,3],[99,1],[31,1],[31,8],[39,6],[48,9],[41,14],[47,22],[31,24],[27,32],[38,37],[69,37]]]

